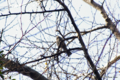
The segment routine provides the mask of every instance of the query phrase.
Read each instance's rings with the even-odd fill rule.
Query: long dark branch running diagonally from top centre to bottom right
[[[69,18],[70,18],[70,20],[71,20],[71,22],[72,22],[72,24],[73,24],[73,26],[74,26],[77,34],[78,34],[78,40],[79,40],[80,44],[82,45],[82,48],[83,48],[85,57],[86,57],[87,61],[89,62],[89,64],[91,65],[92,70],[93,70],[94,74],[96,75],[96,78],[97,78],[98,80],[101,80],[101,77],[100,77],[100,75],[99,75],[99,73],[98,73],[98,70],[96,69],[96,66],[94,65],[93,61],[91,60],[91,58],[90,58],[90,56],[89,56],[89,54],[88,54],[88,50],[87,50],[86,47],[85,47],[85,44],[84,44],[83,39],[82,39],[82,37],[81,37],[80,31],[79,31],[79,29],[78,29],[78,27],[77,27],[77,25],[76,25],[76,23],[75,23],[72,15],[71,15],[70,10],[69,10],[68,7],[67,7],[64,3],[62,3],[60,0],[56,0],[56,1],[57,1],[59,4],[61,4],[61,5],[63,6],[63,8],[66,10],[66,12],[68,13],[68,16],[69,16]]]

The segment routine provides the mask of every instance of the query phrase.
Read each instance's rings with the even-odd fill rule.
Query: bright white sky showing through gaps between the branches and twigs
[[[35,12],[35,11],[41,11],[40,6],[38,5],[37,2],[30,2],[28,3],[28,1],[30,0],[9,0],[7,1],[2,1],[0,2],[0,14],[9,14],[9,11],[11,13],[18,13],[18,12],[24,12],[25,8],[26,8],[26,12]],[[96,0],[96,2],[98,2],[99,4],[101,2],[103,2],[103,0]],[[25,6],[28,3],[27,7]],[[56,2],[57,3],[57,2]],[[72,5],[70,5],[70,3],[72,3]],[[79,3],[79,4],[78,4]],[[119,19],[119,2],[117,2],[117,0],[112,1],[112,0],[106,0],[105,9],[107,10],[108,14],[110,15],[115,15],[116,19]],[[52,9],[60,9],[61,6],[59,6],[58,4],[54,4],[54,1],[50,0],[46,7],[46,10],[52,10]],[[8,7],[9,5],[9,7]],[[105,24],[104,19],[102,18],[101,14],[99,11],[95,10],[94,8],[92,8],[91,6],[89,6],[88,4],[86,4],[85,2],[83,2],[82,0],[73,0],[73,1],[69,1],[66,2],[66,5],[69,6],[69,9],[72,13],[72,16],[74,17],[77,26],[79,27],[80,31],[84,31],[84,30],[88,30],[91,28],[91,25],[93,27],[98,27],[101,25]],[[110,7],[110,9],[108,9]],[[111,13],[110,13],[111,12]],[[66,13],[60,13],[61,15],[64,14],[63,17],[66,17],[67,14]],[[32,15],[32,16],[31,16]],[[50,43],[55,42],[55,36],[58,35],[58,33],[56,33],[56,20],[60,19],[60,16],[58,18],[56,18],[57,13],[45,13],[43,17],[43,14],[24,14],[24,15],[11,15],[11,16],[7,16],[7,17],[0,17],[0,23],[2,27],[0,27],[0,30],[5,28],[5,33],[3,37],[4,40],[6,41],[6,44],[9,45],[14,45],[15,43],[17,43],[17,41],[19,41],[19,39],[22,37],[23,34],[25,34],[26,32],[28,32],[24,37],[22,37],[22,41],[20,44],[18,44],[18,47],[15,47],[15,50],[13,50],[13,54],[11,54],[9,56],[10,59],[13,59],[14,57],[19,58],[19,61],[21,63],[23,62],[28,62],[31,60],[35,60],[36,58],[39,58],[39,55],[41,55],[40,53],[44,53],[43,50],[38,49],[39,47],[43,47],[46,46],[48,47],[50,44],[45,44],[43,42],[43,40],[49,40]],[[31,17],[30,17],[31,16]],[[112,18],[112,16],[110,16]],[[114,19],[113,19],[114,21]],[[74,28],[72,27],[72,25],[70,24],[70,20],[67,20],[66,18],[63,19],[61,21],[61,31],[64,30],[64,25],[65,23],[68,22],[69,24],[67,24],[67,30],[68,31],[72,31],[74,30]],[[93,23],[91,23],[93,22]],[[97,26],[96,26],[97,25]],[[31,30],[32,29],[32,30]],[[89,43],[89,47],[92,47],[94,44],[94,38],[95,36],[97,36],[98,33],[101,33],[102,31],[99,32],[94,32],[91,33],[91,35],[85,35],[83,37],[84,42],[86,43],[86,46],[88,46]],[[40,34],[41,33],[41,34]],[[64,33],[64,32],[62,32]],[[66,32],[67,33],[67,32]],[[105,30],[104,34],[100,34],[98,40],[104,40],[108,37],[108,35],[110,34],[109,30]],[[76,35],[76,34],[75,34]],[[106,35],[106,36],[103,36]],[[90,38],[88,37],[90,36]],[[50,37],[48,39],[48,37]],[[28,41],[26,41],[28,40]],[[32,43],[29,42],[29,40],[32,41]],[[93,40],[93,41],[92,41]],[[97,39],[96,39],[97,41]],[[35,43],[34,43],[35,42]],[[114,43],[115,39],[114,36],[111,39],[111,41],[107,44],[108,49],[111,47],[113,47],[113,45],[109,46],[110,43]],[[5,43],[1,44],[1,48],[2,50],[8,50],[9,46],[7,46]],[[76,45],[75,45],[76,44]],[[96,42],[96,45],[99,45]],[[99,45],[99,49],[101,50],[101,48],[103,47],[104,42]],[[36,47],[36,49],[26,49],[24,47]],[[39,46],[39,47],[38,47]],[[56,45],[54,45],[56,47]],[[73,44],[69,45],[69,47],[71,46],[80,46],[77,45],[77,41],[74,42]],[[10,48],[12,48],[13,46],[11,46]],[[91,49],[89,50],[90,55],[96,55],[96,53],[98,52],[96,47],[93,47],[95,49]],[[51,49],[51,51],[53,51],[53,49]],[[105,49],[106,52],[108,52],[107,49]],[[7,53],[7,51],[5,51],[4,53]],[[33,54],[35,53],[35,54]],[[99,51],[100,53],[100,51]],[[46,55],[49,55],[50,53],[47,53]],[[77,52],[76,54],[73,54],[71,57],[72,58],[76,58]],[[83,56],[83,54],[81,54],[81,56]],[[114,55],[115,56],[115,55]],[[105,56],[103,56],[105,57]],[[108,55],[103,58],[105,63],[108,61]],[[73,61],[73,62],[76,62]],[[100,66],[105,66],[106,64],[103,63]],[[28,64],[29,66],[32,66],[32,64]],[[43,63],[44,67],[45,64]],[[84,64],[83,64],[84,65]],[[41,65],[38,65],[41,66]],[[74,66],[74,65],[73,65]],[[113,65],[114,66],[114,65]],[[86,66],[87,67],[87,66]],[[39,69],[38,67],[33,67],[33,69]],[[82,68],[82,67],[81,67]],[[85,69],[85,68],[84,68]],[[114,69],[114,68],[113,68]],[[112,68],[110,69],[110,72],[113,70]],[[44,68],[43,68],[44,70]],[[39,70],[39,71],[43,71],[43,70]],[[113,70],[114,71],[114,70]],[[109,72],[109,71],[108,71]],[[11,74],[13,75],[13,74]],[[113,74],[112,74],[113,75]],[[119,75],[119,74],[118,74]],[[13,76],[13,78],[16,78],[16,75]],[[118,76],[117,76],[118,77]],[[24,76],[22,76],[21,74],[17,76],[17,78],[19,78],[20,80],[25,79]],[[117,80],[117,79],[116,79]]]

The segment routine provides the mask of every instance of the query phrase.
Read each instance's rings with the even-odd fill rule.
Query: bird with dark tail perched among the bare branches
[[[67,51],[68,57],[72,54],[70,51],[67,50],[66,44],[64,43],[64,39],[61,38],[60,36],[56,36],[56,43],[57,46],[62,48],[64,51]]]

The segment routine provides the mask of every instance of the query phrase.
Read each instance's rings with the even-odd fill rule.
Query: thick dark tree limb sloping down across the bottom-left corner
[[[28,66],[22,66],[18,62],[11,61],[9,59],[1,58],[0,61],[2,61],[2,65],[9,69],[10,72],[16,71],[18,73],[21,73],[23,75],[26,75],[33,80],[48,80],[45,78],[42,74],[38,73],[34,69],[28,67]]]

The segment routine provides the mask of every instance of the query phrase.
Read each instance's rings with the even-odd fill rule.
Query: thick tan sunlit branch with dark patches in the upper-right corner
[[[94,2],[94,0],[83,0],[83,1],[85,1],[86,3],[93,6],[95,9],[97,9],[101,12],[103,18],[106,21],[106,26],[112,31],[112,33],[115,35],[115,37],[120,41],[120,32],[116,28],[116,25],[114,24],[114,22],[112,22],[112,20],[107,15],[105,9],[103,8],[103,5],[101,6],[101,5],[97,4],[96,2]]]

